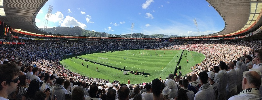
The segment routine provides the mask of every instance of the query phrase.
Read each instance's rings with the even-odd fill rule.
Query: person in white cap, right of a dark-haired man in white
[[[215,99],[217,100],[217,98],[218,98],[218,83],[214,82],[215,74],[212,71],[208,72],[207,74],[208,74],[208,85],[213,87]]]

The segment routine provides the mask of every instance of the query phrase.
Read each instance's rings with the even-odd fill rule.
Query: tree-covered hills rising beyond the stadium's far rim
[[[41,28],[43,30],[43,28]],[[94,32],[90,30],[84,30],[78,26],[73,28],[70,27],[53,27],[46,29],[47,32],[57,33],[57,34],[67,34],[67,35],[75,35],[75,36],[88,36],[88,37],[122,37],[122,38],[130,38],[130,34],[108,34],[106,32]],[[165,35],[165,34],[151,34],[145,35],[142,33],[133,33],[132,38],[163,38],[164,37],[187,37],[187,36],[178,36],[178,35]]]

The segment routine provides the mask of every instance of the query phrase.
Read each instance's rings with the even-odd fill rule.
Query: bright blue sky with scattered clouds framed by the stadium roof
[[[39,11],[36,25],[43,28],[49,5],[48,28],[79,26],[109,34],[132,33],[198,36],[221,31],[225,24],[205,0],[49,0]]]

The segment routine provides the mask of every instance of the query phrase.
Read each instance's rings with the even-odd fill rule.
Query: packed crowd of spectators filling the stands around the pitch
[[[208,78],[209,75],[207,76],[207,74],[205,74],[206,73],[205,71],[210,71],[214,69],[213,66],[218,66],[218,65],[222,66],[220,65],[221,61],[224,61],[225,64],[229,64],[233,60],[244,62],[244,60],[248,59],[249,57],[252,57],[253,59],[257,57],[257,59],[259,59],[261,58],[259,55],[256,55],[256,57],[253,57],[252,55],[255,55],[255,53],[253,52],[254,50],[261,49],[261,47],[262,47],[261,40],[254,40],[254,41],[176,41],[176,42],[171,42],[171,43],[160,43],[160,42],[152,42],[152,41],[151,42],[149,41],[111,41],[111,42],[108,42],[108,41],[106,42],[104,41],[100,41],[100,42],[27,41],[26,44],[22,47],[16,47],[16,48],[1,47],[0,56],[2,58],[1,58],[0,63],[3,65],[9,64],[8,66],[15,66],[12,63],[16,63],[15,67],[22,71],[18,74],[14,74],[14,77],[16,75],[19,75],[21,77],[19,78],[19,80],[21,79],[20,81],[15,82],[17,84],[19,82],[27,82],[28,80],[25,80],[25,79],[29,79],[29,78],[22,78],[21,74],[27,74],[28,72],[32,72],[33,75],[36,75],[39,77],[41,81],[39,82],[39,80],[31,80],[31,82],[34,82],[34,85],[31,85],[31,87],[29,85],[27,91],[31,90],[32,88],[37,88],[36,84],[39,84],[39,87],[41,87],[40,85],[42,84],[49,84],[50,87],[52,87],[50,90],[40,89],[45,94],[45,96],[43,96],[44,98],[52,98],[54,97],[54,94],[55,94],[58,96],[57,98],[59,99],[68,99],[71,96],[68,94],[72,94],[72,97],[70,99],[74,99],[73,95],[75,94],[73,94],[74,93],[73,90],[79,89],[78,86],[81,86],[84,89],[83,91],[89,91],[89,92],[84,93],[85,95],[84,98],[86,100],[94,99],[94,98],[103,98],[105,97],[107,93],[112,94],[112,95],[115,94],[115,96],[113,96],[115,98],[113,99],[119,99],[119,100],[132,99],[128,95],[132,95],[133,93],[134,95],[132,96],[134,97],[133,98],[134,100],[135,98],[142,98],[142,99],[144,98],[145,100],[149,98],[151,99],[152,98],[153,99],[160,99],[160,98],[161,99],[170,99],[170,97],[171,99],[178,99],[178,98],[192,98],[192,97],[188,97],[187,95],[185,95],[185,93],[189,91],[193,91],[193,90],[190,90],[191,88],[188,88],[189,90],[187,90],[187,87],[183,86],[182,84],[183,82],[182,80],[180,80],[180,77],[179,79],[177,77],[174,79],[174,75],[173,76],[171,75],[168,77],[169,79],[174,80],[175,83],[177,84],[176,86],[171,86],[172,88],[169,86],[170,84],[168,85],[168,83],[163,84],[163,82],[165,81],[167,82],[168,80],[160,81],[158,79],[153,80],[152,83],[138,83],[138,84],[130,84],[130,85],[125,86],[125,84],[120,84],[118,81],[109,82],[109,80],[107,79],[98,79],[98,78],[83,76],[79,73],[72,72],[64,68],[64,66],[60,65],[59,63],[60,59],[63,57],[63,55],[59,52],[80,54],[80,53],[85,53],[85,52],[110,51],[110,50],[119,50],[119,49],[156,49],[156,48],[187,49],[189,51],[196,51],[196,52],[204,54],[206,58],[200,64],[193,66],[191,68],[192,72],[186,74],[185,76],[190,75],[192,77],[191,82],[188,81],[189,85],[196,84],[192,86],[199,86],[198,88],[199,90],[196,91],[196,92],[199,92],[200,90],[203,91],[204,89],[208,89],[208,91],[212,90],[211,87],[207,85],[208,83],[206,83],[206,81],[209,80]],[[256,52],[259,52],[259,51],[256,51]],[[257,53],[257,54],[260,54],[260,53]],[[244,59],[242,59],[242,56],[244,57]],[[242,60],[239,60],[239,58]],[[256,61],[254,62],[257,65],[260,64]],[[33,67],[33,71],[30,70],[30,67]],[[35,70],[36,68],[39,68],[39,70]],[[229,66],[229,68],[225,67],[225,68],[221,68],[221,70],[226,69],[227,71],[229,71],[229,70],[232,70],[232,68],[234,67]],[[235,68],[238,68],[238,67],[235,67]],[[23,72],[24,69],[26,69],[25,72]],[[242,72],[248,71],[248,69],[250,68],[244,68]],[[1,66],[0,66],[0,70],[1,70]],[[198,79],[198,82],[196,82],[197,75],[195,73],[201,73],[198,75],[200,78]],[[259,71],[257,73],[259,74]],[[250,74],[253,75],[254,73],[250,72]],[[51,77],[46,77],[44,75],[49,75]],[[215,74],[215,75],[218,75],[218,74]],[[257,74],[255,73],[254,75],[257,75]],[[259,75],[261,77],[261,73]],[[213,77],[212,78],[216,82],[217,78],[216,76],[214,77],[215,77],[215,80]],[[247,79],[246,81],[249,81],[248,78],[249,78],[248,75],[246,75],[246,79]],[[245,76],[244,76],[244,79],[245,79]],[[11,78],[10,80],[15,81],[15,79],[13,78]],[[50,80],[52,80],[52,82]],[[69,86],[66,85],[67,87],[63,87],[64,86],[63,83],[66,82],[65,80],[70,80],[71,82],[68,84]],[[4,81],[4,80],[1,80],[1,81]],[[24,84],[25,83],[19,85],[20,88],[26,87]],[[27,82],[27,84],[30,84],[30,80],[29,82]],[[147,84],[150,84],[150,86],[147,86]],[[260,81],[260,84],[261,84],[261,81]],[[32,87],[32,86],[35,86],[35,87]],[[165,86],[167,87],[165,88]],[[139,89],[139,92],[143,91],[142,90],[143,87],[144,88],[150,87],[152,89],[151,90],[145,89],[144,93],[143,92],[139,93],[137,92],[136,87]],[[252,87],[252,88],[257,88],[257,87]],[[21,89],[25,89],[25,88],[21,88]],[[96,93],[96,91],[98,90],[103,91],[103,89],[105,89],[105,93]],[[113,91],[111,91],[111,89],[113,89]],[[128,89],[128,93],[129,93],[128,95],[124,94],[126,89]],[[18,99],[18,98],[19,99],[20,98],[34,99],[34,95],[35,96],[41,95],[41,93],[37,92],[40,90],[33,91],[33,94],[31,93],[29,96],[27,92],[24,91],[23,93],[19,93],[20,97],[18,95],[16,95],[18,97],[14,97],[13,94],[15,91],[12,91],[13,94],[9,95],[8,98],[9,99]],[[135,90],[136,92],[134,92]],[[157,90],[162,91],[162,93],[159,93],[159,91]],[[227,92],[232,92],[231,90],[230,91],[227,90]],[[64,91],[64,92],[62,92],[61,94],[61,91]],[[122,92],[118,93],[117,91],[122,91]],[[0,89],[0,92],[1,92],[1,89]],[[241,91],[238,91],[236,93],[240,93],[240,92]],[[213,92],[210,92],[210,93],[213,93]],[[103,94],[105,95],[103,96]],[[174,95],[168,96],[169,94],[174,94],[176,96]],[[199,99],[198,97],[201,97],[203,95],[203,93],[194,93],[194,94],[195,94],[195,99]],[[112,95],[109,95],[107,97],[112,98]],[[218,95],[221,96],[221,93],[218,93]],[[233,95],[236,95],[236,94],[233,93]],[[231,96],[233,95],[231,94]],[[226,98],[226,99],[229,99],[229,98]]]

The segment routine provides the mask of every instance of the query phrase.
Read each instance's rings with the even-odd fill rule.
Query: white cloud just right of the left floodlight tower
[[[45,15],[46,18],[46,15]],[[59,25],[63,22],[64,19],[64,15],[62,14],[62,12],[57,11],[55,14],[51,14],[51,16],[49,16],[48,21],[50,22],[58,22]]]

